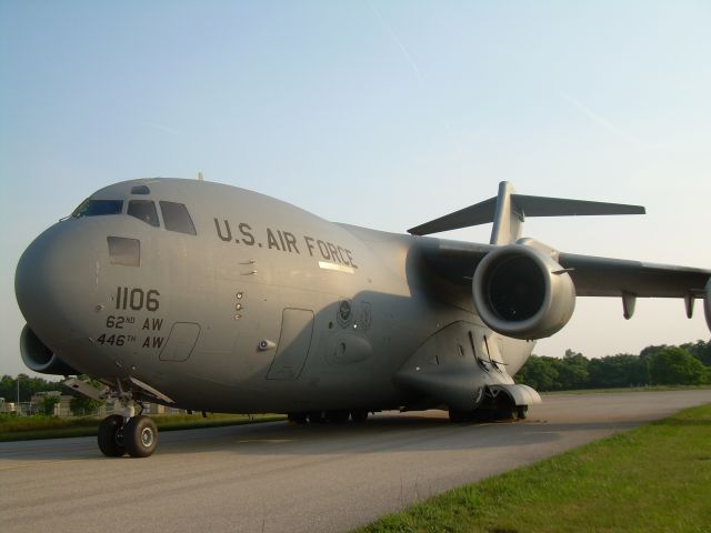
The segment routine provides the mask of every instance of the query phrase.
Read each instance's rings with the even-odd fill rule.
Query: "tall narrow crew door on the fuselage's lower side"
[[[296,380],[301,374],[313,334],[313,311],[284,309],[277,354],[267,373],[268,380]]]

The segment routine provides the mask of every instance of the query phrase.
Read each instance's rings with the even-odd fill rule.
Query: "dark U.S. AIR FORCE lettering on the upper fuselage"
[[[221,222],[218,219],[213,220],[217,234],[224,242],[236,242],[238,244],[259,248],[264,245],[263,242],[257,240],[254,230],[252,230],[247,222],[237,223],[233,233],[232,225],[228,220],[223,219]],[[301,254],[301,250],[307,250],[312,258],[320,257],[326,261],[333,261],[347,266],[352,266],[353,269],[358,268],[353,262],[353,252],[333,242],[309,235],[303,235],[302,242],[299,242],[297,237],[290,231],[272,230],[271,228],[267,228],[266,237],[268,249],[298,254]],[[300,245],[302,247],[301,249],[299,248]]]

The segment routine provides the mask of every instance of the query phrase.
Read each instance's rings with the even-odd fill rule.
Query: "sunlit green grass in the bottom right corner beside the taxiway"
[[[398,513],[368,532],[711,532],[711,404]]]

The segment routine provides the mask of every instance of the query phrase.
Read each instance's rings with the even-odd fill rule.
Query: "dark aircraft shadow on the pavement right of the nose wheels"
[[[632,422],[545,421],[452,424],[427,416],[380,416],[363,424],[289,425],[286,422],[222,428],[219,434],[190,432],[164,438],[159,455],[234,452],[243,455],[339,455],[442,450],[500,449],[543,444],[567,433],[600,436],[631,429]],[[186,432],[187,433],[187,432]],[[168,433],[166,434],[168,435]]]

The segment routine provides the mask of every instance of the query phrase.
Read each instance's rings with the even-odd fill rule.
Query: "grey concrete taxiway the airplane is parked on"
[[[93,438],[0,443],[6,532],[347,531],[452,486],[711,402],[711,390],[543,396],[517,423],[438,411],[365,424],[163,432],[149,459]]]

